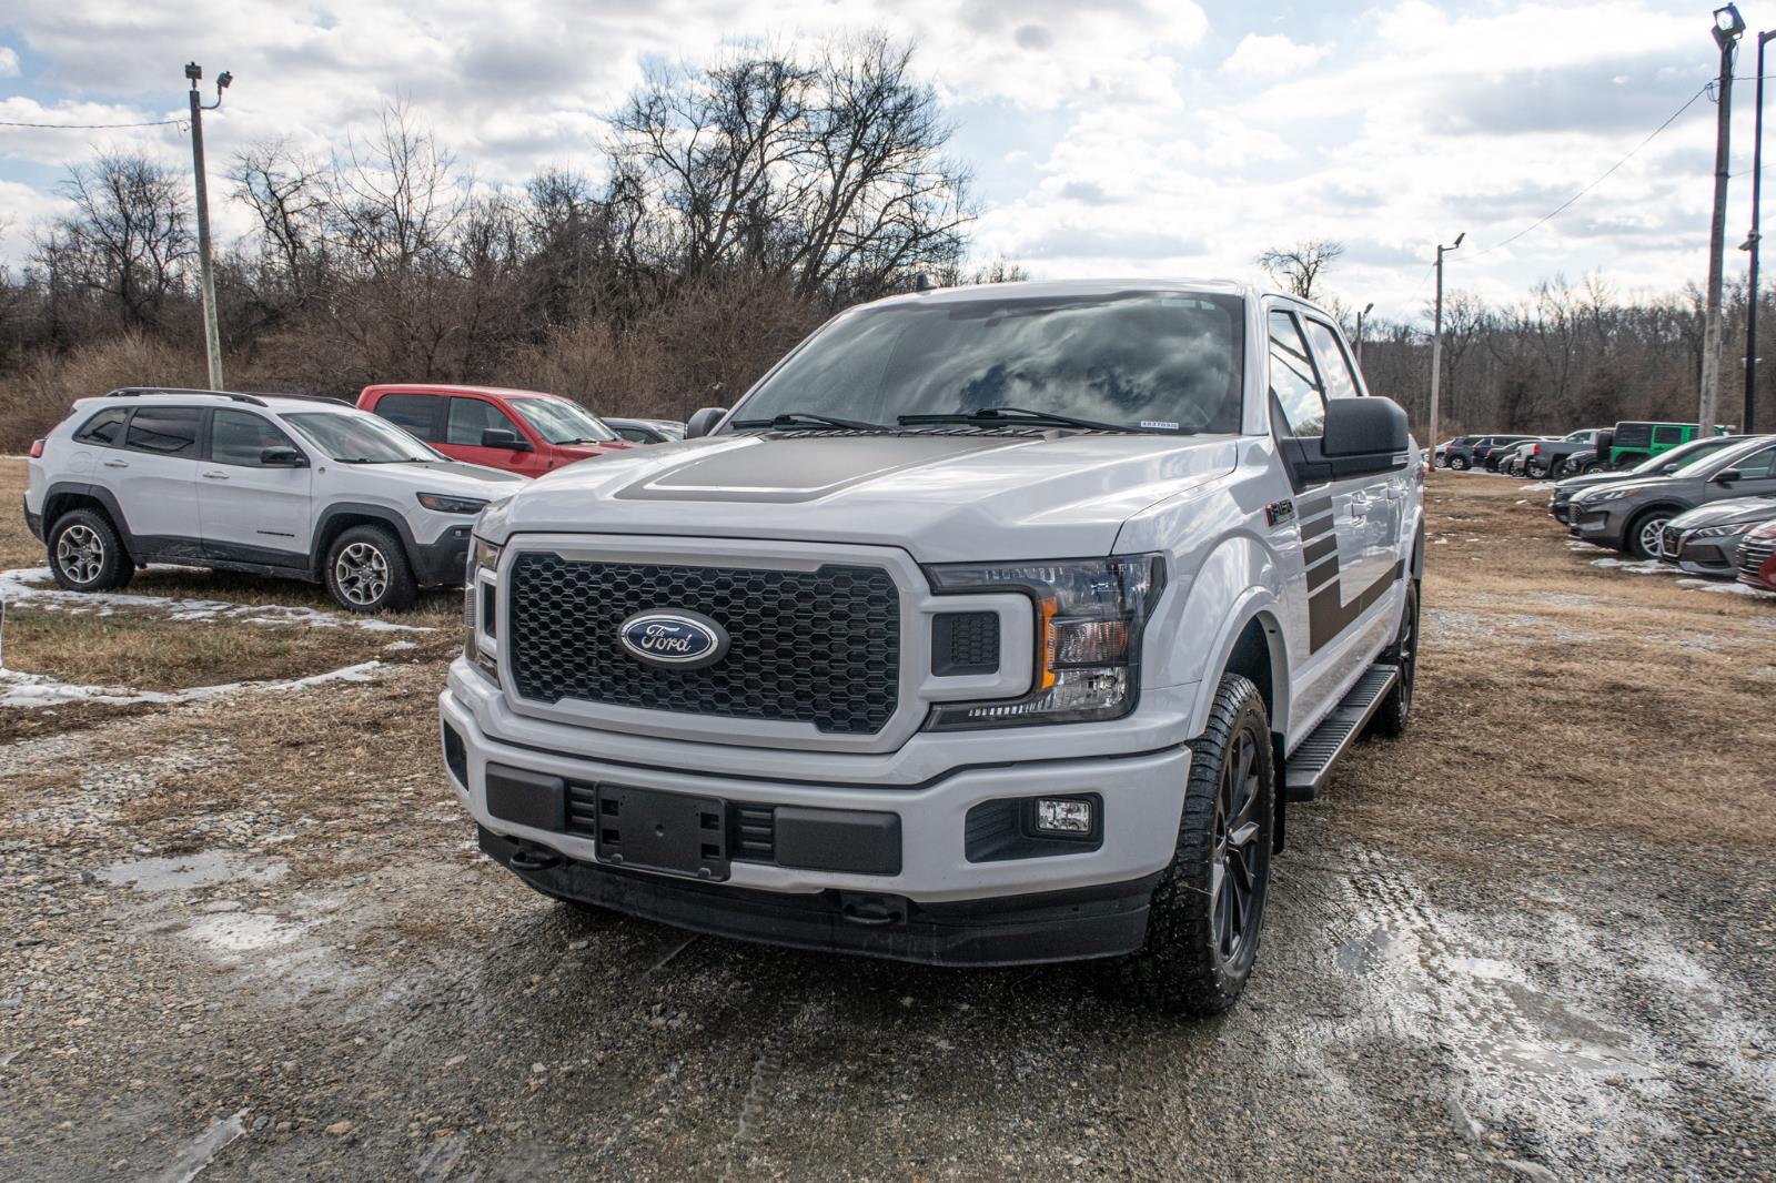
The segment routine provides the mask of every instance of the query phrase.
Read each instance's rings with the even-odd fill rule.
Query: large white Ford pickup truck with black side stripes
[[[1288,805],[1412,705],[1424,465],[1336,322],[1229,282],[845,311],[678,444],[474,528],[442,748],[538,892],[1186,1012]]]

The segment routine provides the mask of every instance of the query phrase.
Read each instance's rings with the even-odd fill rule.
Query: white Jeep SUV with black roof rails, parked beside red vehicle
[[[336,400],[123,389],[32,446],[25,520],[75,592],[179,563],[320,581],[371,613],[460,586],[471,520],[520,483]]]

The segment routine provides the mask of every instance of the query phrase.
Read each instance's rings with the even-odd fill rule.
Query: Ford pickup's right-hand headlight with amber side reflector
[[[943,703],[931,730],[1119,719],[1140,693],[1140,636],[1165,588],[1158,554],[1069,563],[927,567],[938,593],[1019,592],[1035,602],[1030,691],[1023,698]]]

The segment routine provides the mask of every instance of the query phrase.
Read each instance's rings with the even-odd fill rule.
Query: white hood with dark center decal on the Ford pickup
[[[922,561],[1110,554],[1140,510],[1227,474],[1234,435],[719,435],[575,464],[478,533],[796,538]]]

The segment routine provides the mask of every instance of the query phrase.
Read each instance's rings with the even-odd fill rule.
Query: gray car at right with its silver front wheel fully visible
[[[1659,556],[1664,528],[1678,513],[1712,501],[1776,494],[1776,437],[1760,435],[1684,465],[1669,476],[1641,476],[1588,488],[1572,501],[1572,533],[1586,542]]]

